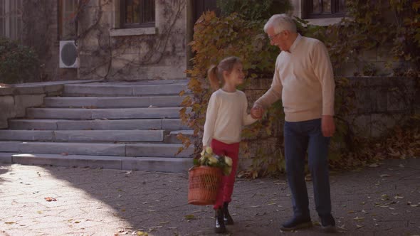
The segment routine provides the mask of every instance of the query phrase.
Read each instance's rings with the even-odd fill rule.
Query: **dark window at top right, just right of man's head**
[[[333,18],[345,16],[345,0],[306,0],[306,18]]]

